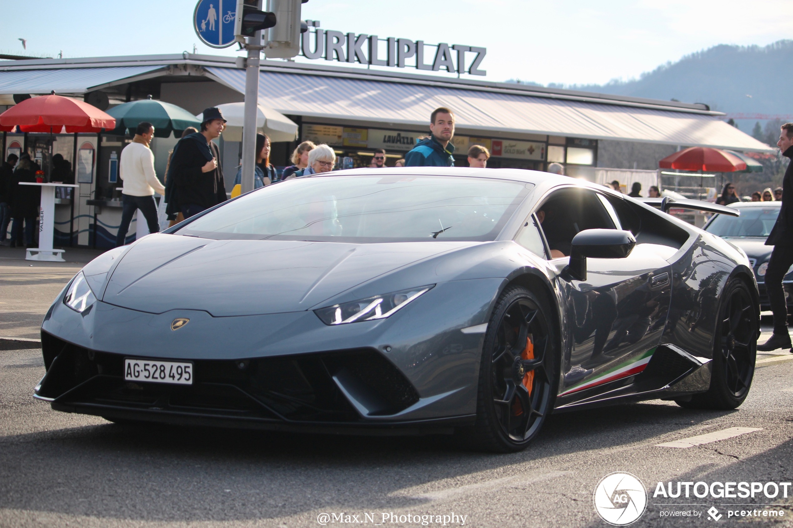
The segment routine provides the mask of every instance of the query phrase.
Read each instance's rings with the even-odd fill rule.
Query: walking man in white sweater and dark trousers
[[[124,180],[124,188],[121,191],[124,209],[121,213],[121,225],[118,226],[116,247],[124,245],[129,222],[132,222],[132,216],[138,209],[146,218],[149,233],[159,231],[154,193],[158,192],[165,196],[165,188],[159,183],[154,172],[154,153],[149,148],[153,137],[154,126],[143,121],[138,125],[132,142],[121,150],[118,174],[121,180]]]

